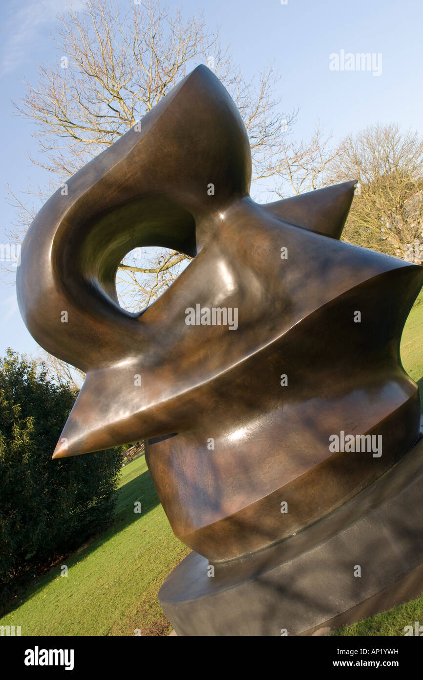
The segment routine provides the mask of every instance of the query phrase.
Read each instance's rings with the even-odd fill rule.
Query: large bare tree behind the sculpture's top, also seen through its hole
[[[185,20],[158,0],[126,10],[115,1],[86,0],[81,10],[58,20],[58,61],[40,66],[37,84],[26,82],[26,95],[14,102],[18,114],[36,123],[40,153],[31,160],[52,176],[48,188],[37,190],[39,199],[121,137],[198,63],[215,71],[236,101],[251,141],[253,179],[278,171],[281,140],[296,116],[280,112],[274,97],[278,73],[269,65],[244,82],[219,32],[208,31],[202,14]],[[16,239],[39,203],[11,195]],[[126,307],[139,309],[170,285],[189,258],[163,250],[139,249],[138,255],[139,261],[125,258],[117,283]]]

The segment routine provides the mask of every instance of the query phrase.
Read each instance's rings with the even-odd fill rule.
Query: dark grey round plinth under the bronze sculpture
[[[191,553],[164,581],[160,603],[179,636],[327,632],[422,592],[422,515],[420,440],[331,515],[268,549],[215,564],[213,577],[208,560]]]

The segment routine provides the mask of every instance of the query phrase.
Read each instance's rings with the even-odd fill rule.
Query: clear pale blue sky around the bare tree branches
[[[35,154],[33,126],[13,115],[10,100],[24,92],[22,78],[34,82],[37,63],[58,58],[50,33],[65,0],[3,0],[0,7],[1,243],[14,222],[5,184],[15,191],[43,183],[41,171],[26,157]],[[71,3],[75,8],[80,0]],[[191,15],[204,11],[210,30],[220,27],[222,44],[230,44],[244,78],[270,61],[282,75],[278,95],[282,110],[300,107],[295,136],[308,137],[320,120],[334,141],[375,122],[397,122],[423,134],[423,6],[416,0],[185,0],[170,2]],[[332,71],[333,53],[382,54],[382,73]],[[0,284],[0,352],[10,346],[37,353],[16,306],[13,285]]]

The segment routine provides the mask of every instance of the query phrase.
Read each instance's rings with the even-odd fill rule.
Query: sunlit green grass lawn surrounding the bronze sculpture
[[[403,333],[405,370],[423,392],[423,293]],[[189,550],[172,534],[158,502],[144,456],[122,469],[115,521],[76,554],[37,579],[0,625],[21,626],[22,635],[164,635],[170,625],[158,603],[166,575]],[[134,502],[141,501],[141,515]],[[423,622],[423,597],[363,622],[338,635],[401,635],[404,626]]]

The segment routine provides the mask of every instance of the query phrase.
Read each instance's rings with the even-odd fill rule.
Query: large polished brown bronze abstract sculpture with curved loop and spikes
[[[335,550],[335,599],[307,617],[301,563],[287,569],[418,477],[416,456],[398,467],[420,431],[399,341],[423,268],[338,240],[354,181],[268,205],[250,181],[242,119],[200,66],[45,203],[18,270],[26,326],[87,374],[53,457],[148,440],[172,529],[198,553],[160,594],[180,634],[305,632],[388,588],[398,570],[345,607],[335,575],[354,580],[365,543],[347,566]],[[148,245],[194,260],[129,313],[115,275]]]

